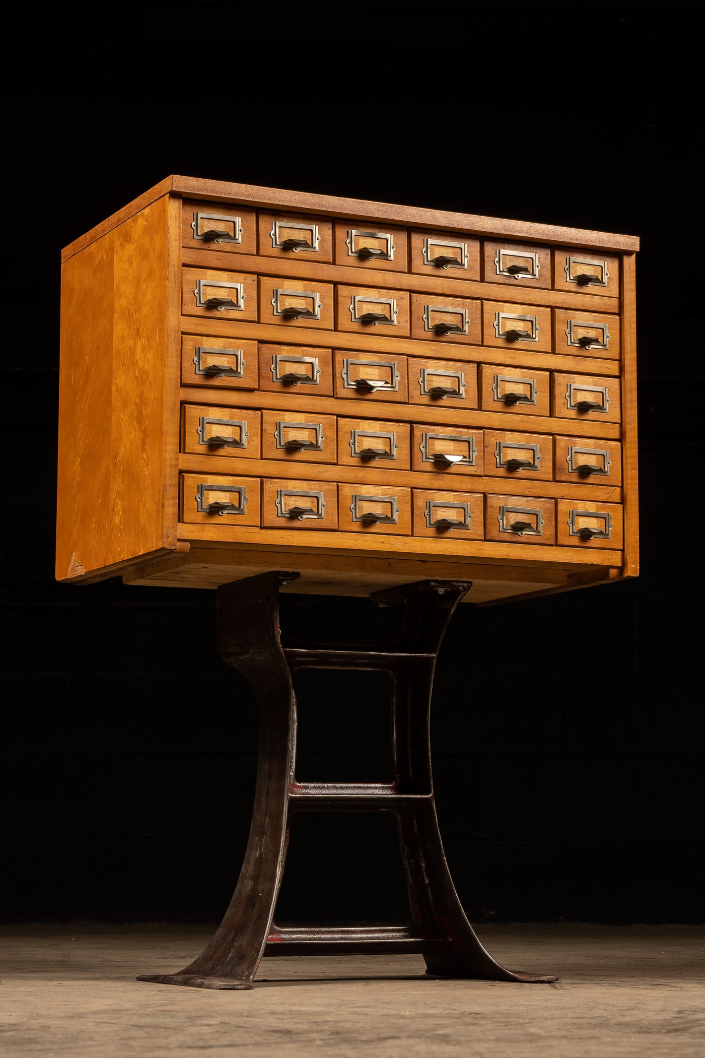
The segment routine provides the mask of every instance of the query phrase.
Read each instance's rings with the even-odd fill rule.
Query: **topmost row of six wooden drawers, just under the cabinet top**
[[[619,296],[616,254],[184,202],[185,248]]]

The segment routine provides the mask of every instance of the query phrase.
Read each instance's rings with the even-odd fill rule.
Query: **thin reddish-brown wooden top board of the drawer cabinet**
[[[354,217],[370,221],[390,221],[414,227],[439,231],[462,231],[472,235],[494,235],[511,239],[532,239],[563,245],[594,247],[633,253],[638,250],[635,235],[615,235],[609,232],[591,232],[580,227],[558,224],[538,224],[500,217],[480,217],[471,213],[448,213],[421,206],[395,205],[389,202],[368,202],[365,199],[339,198],[335,195],[316,195],[292,191],[280,187],[258,187],[255,184],[234,184],[223,180],[200,180],[196,177],[170,176],[148,191],[118,209],[111,217],[81,235],[61,253],[68,260],[91,242],[95,242],[113,227],[124,223],[134,214],[150,205],[163,195],[188,196],[218,202],[237,202],[249,206],[285,209],[287,212],[320,213],[329,217]]]

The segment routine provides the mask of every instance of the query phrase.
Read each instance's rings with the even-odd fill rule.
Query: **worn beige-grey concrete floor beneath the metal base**
[[[416,955],[267,959],[253,991],[140,984],[209,930],[5,927],[0,1053],[187,1058],[611,1058],[705,1055],[705,927],[511,926],[478,932],[555,985],[424,978]]]

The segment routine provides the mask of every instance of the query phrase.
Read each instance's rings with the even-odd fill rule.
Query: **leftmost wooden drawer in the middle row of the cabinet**
[[[257,342],[183,334],[181,379],[185,386],[257,389]]]

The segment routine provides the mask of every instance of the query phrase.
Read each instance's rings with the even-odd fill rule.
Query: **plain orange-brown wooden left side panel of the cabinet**
[[[163,547],[167,206],[63,264],[58,580]]]

